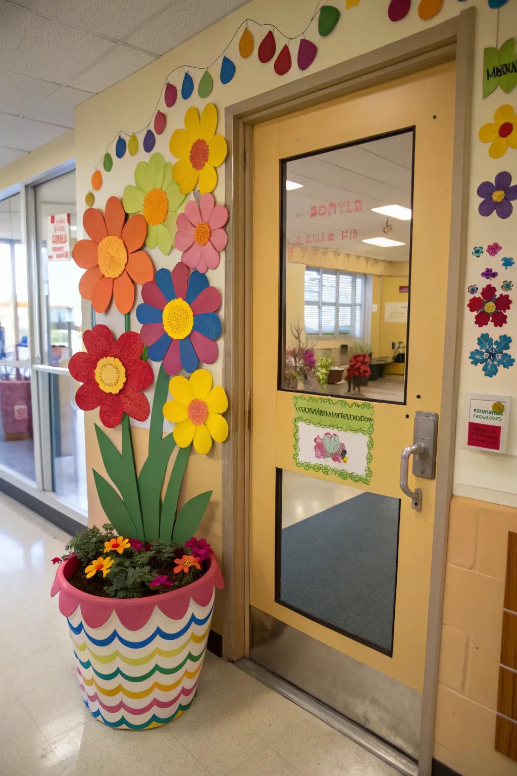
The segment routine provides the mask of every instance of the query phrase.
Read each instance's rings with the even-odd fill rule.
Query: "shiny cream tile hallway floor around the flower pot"
[[[109,729],[79,695],[50,599],[67,535],[0,494],[0,776],[396,776],[336,730],[207,653],[195,705],[145,733]]]

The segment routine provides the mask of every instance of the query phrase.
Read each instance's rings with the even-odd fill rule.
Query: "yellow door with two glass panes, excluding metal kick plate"
[[[453,102],[443,64],[253,138],[250,605],[417,692],[436,480],[410,463],[415,511],[399,473],[440,405]]]

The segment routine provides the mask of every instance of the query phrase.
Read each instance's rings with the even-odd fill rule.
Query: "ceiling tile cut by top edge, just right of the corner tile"
[[[98,32],[102,19],[102,34],[122,40],[136,26],[164,8],[168,0],[18,0],[19,5],[44,13],[57,21]]]

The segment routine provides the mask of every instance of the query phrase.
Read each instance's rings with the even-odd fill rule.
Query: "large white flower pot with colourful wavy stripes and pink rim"
[[[215,587],[224,582],[212,556],[190,585],[147,598],[100,598],[73,587],[71,556],[57,568],[51,595],[67,618],[86,708],[113,728],[146,730],[176,719],[195,699]]]

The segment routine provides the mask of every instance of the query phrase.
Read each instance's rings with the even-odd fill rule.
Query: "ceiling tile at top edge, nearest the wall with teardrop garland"
[[[171,8],[129,37],[127,43],[165,54],[240,5],[244,5],[243,0],[174,0]]]

